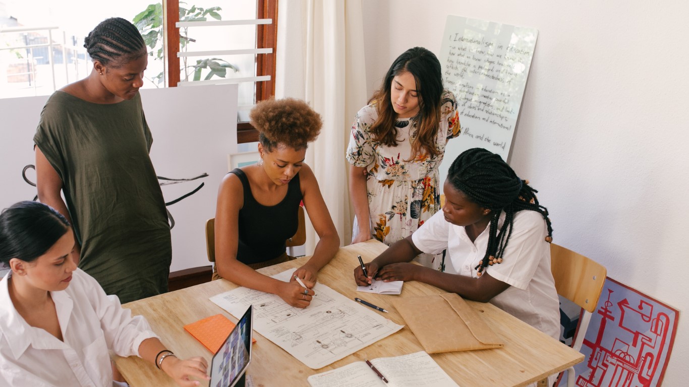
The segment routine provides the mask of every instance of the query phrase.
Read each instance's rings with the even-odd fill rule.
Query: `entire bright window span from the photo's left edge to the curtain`
[[[149,60],[144,87],[177,86],[194,81],[194,76],[203,82],[214,69],[216,74],[208,81],[241,81],[238,142],[258,140],[246,121],[251,106],[274,95],[278,0],[150,1],[120,0],[113,10],[94,7],[88,0],[0,0],[0,98],[48,95],[83,79],[92,69],[84,36],[108,17],[134,22],[151,8],[152,17],[158,18],[153,24],[161,28],[156,49],[149,48],[154,60]],[[89,17],[76,10],[88,10]],[[222,23],[178,27],[182,14]],[[269,23],[233,23],[249,19],[269,19]],[[193,67],[198,65],[206,67]],[[218,75],[223,68],[224,77]],[[251,80],[255,78],[261,80]]]

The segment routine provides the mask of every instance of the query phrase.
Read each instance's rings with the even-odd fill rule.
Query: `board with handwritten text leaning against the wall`
[[[533,28],[447,17],[440,64],[445,88],[457,98],[462,134],[447,143],[441,181],[466,149],[482,147],[507,160],[537,36]]]

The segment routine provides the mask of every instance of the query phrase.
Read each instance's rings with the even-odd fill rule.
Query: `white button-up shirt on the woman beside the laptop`
[[[144,339],[157,337],[143,316],[132,317],[116,296],[76,269],[67,289],[50,293],[61,342],[17,313],[8,293],[11,275],[0,281],[0,386],[111,387],[108,350],[138,355]]]

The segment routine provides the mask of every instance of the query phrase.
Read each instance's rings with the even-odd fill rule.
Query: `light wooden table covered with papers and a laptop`
[[[361,293],[356,292],[356,285],[353,280],[353,269],[358,264],[356,255],[361,254],[364,262],[369,262],[386,248],[384,244],[376,240],[343,247],[338,251],[335,258],[320,271],[318,281],[349,298],[360,296]],[[300,258],[259,271],[273,275],[289,268],[298,267],[306,260],[307,258]],[[212,353],[196,341],[192,335],[189,335],[183,326],[218,313],[223,313],[230,320],[236,322],[236,318],[209,300],[212,295],[236,287],[238,287],[236,284],[226,280],[212,281],[145,300],[130,302],[124,306],[131,308],[134,315],[144,315],[153,330],[160,335],[163,343],[167,345],[167,348],[179,357],[202,355],[210,364]],[[382,306],[390,312],[383,313],[385,317],[397,324],[404,325],[404,320],[391,302],[394,297],[438,293],[442,293],[442,291],[434,286],[420,282],[406,282],[401,295],[367,293],[366,300]],[[502,337],[505,346],[482,351],[432,354],[431,357],[435,359],[435,362],[438,362],[440,367],[461,387],[526,386],[533,381],[538,381],[553,373],[559,373],[584,360],[584,355],[581,353],[537,331],[492,304],[471,301],[469,304],[481,313],[493,331]],[[433,318],[433,316],[429,316],[429,318]],[[449,332],[438,332],[438,334],[447,335]],[[322,373],[362,359],[423,351],[421,344],[411,333],[411,330],[405,326],[397,333],[393,333],[353,355],[319,370],[312,370],[262,335],[255,333],[254,337],[256,337],[257,342],[254,344],[254,353],[247,369],[247,375],[253,379],[254,386],[263,387],[309,386],[307,377],[314,373]],[[165,373],[138,357],[115,357],[115,362],[117,368],[132,387],[176,386]]]

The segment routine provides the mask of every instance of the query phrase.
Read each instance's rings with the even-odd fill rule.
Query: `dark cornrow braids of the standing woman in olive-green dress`
[[[146,44],[136,26],[121,17],[101,21],[84,39],[84,48],[94,61],[118,65],[146,54]],[[123,61],[125,60],[125,61]]]

